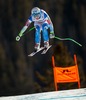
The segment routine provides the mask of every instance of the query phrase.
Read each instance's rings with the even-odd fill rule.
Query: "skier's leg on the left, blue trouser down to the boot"
[[[40,48],[40,40],[41,40],[41,35],[40,35],[40,27],[38,25],[36,27],[36,32],[35,32],[35,50],[38,50]]]

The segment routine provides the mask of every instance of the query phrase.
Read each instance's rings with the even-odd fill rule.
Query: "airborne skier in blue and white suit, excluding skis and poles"
[[[48,34],[48,28],[50,29],[50,38],[54,38],[54,29],[53,24],[51,22],[51,19],[49,15],[42,9],[38,7],[34,7],[31,11],[31,16],[28,18],[25,26],[20,31],[19,35],[16,37],[16,41],[19,41],[20,38],[23,36],[23,33],[26,31],[28,26],[34,22],[35,27],[35,52],[40,49],[40,42],[41,42],[41,31],[44,41],[44,47],[49,47],[49,34]]]

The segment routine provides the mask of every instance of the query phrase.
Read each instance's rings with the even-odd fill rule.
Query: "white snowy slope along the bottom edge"
[[[0,97],[0,100],[86,100],[86,88]]]

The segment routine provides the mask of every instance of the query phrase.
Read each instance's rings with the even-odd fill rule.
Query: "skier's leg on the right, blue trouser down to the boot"
[[[42,25],[42,34],[43,34],[43,40],[44,40],[44,47],[49,47],[49,35],[48,35],[48,24],[44,23]]]

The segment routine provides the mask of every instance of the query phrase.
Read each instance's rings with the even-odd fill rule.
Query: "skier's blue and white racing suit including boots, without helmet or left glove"
[[[53,29],[53,24],[51,22],[51,19],[49,15],[41,9],[41,16],[39,19],[36,19],[33,15],[31,15],[21,32],[19,33],[19,36],[22,36],[24,31],[28,28],[28,26],[34,22],[34,27],[35,27],[35,49],[40,48],[40,42],[41,42],[41,31],[42,31],[42,36],[43,36],[43,41],[44,41],[44,47],[49,46],[49,34],[48,34],[48,28],[50,29],[50,34],[52,38],[52,34],[54,35],[54,29]]]

